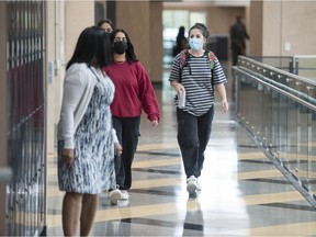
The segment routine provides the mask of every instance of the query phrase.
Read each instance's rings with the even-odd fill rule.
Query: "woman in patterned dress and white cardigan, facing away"
[[[114,142],[110,103],[114,84],[101,70],[112,61],[109,34],[84,29],[67,64],[58,122],[58,184],[65,191],[65,236],[88,236],[98,194],[115,185]]]

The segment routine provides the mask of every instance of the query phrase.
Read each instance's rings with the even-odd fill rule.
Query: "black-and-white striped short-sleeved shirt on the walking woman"
[[[185,108],[181,110],[195,116],[201,116],[214,104],[213,84],[226,83],[227,79],[217,57],[215,57],[212,78],[208,55],[204,54],[201,57],[194,57],[191,54],[189,55],[190,58],[187,59],[188,64],[185,63],[182,68],[181,81],[179,77],[180,54],[176,56],[169,81],[179,81],[185,89]],[[174,104],[178,106],[177,95],[174,98]]]

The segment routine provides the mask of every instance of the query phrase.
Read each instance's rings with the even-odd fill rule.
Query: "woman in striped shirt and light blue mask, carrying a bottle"
[[[178,144],[180,146],[187,190],[190,195],[201,190],[198,178],[201,176],[214,116],[214,88],[221,97],[224,112],[228,111],[227,82],[222,66],[214,55],[204,49],[208,31],[202,23],[195,23],[189,30],[189,46],[185,63],[180,66],[181,54],[177,55],[169,75],[171,87],[176,90]],[[214,64],[211,69],[211,63]],[[214,87],[214,88],[213,88]],[[185,103],[179,103],[179,97],[185,94]],[[181,109],[180,109],[181,108]]]

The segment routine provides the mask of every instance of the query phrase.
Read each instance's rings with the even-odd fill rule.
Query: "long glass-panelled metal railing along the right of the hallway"
[[[316,80],[242,56],[233,71],[238,121],[316,208]]]

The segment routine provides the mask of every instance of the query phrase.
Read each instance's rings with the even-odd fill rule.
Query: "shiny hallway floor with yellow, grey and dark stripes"
[[[91,236],[316,236],[315,210],[235,123],[229,74],[232,110],[224,114],[216,104],[200,194],[185,190],[173,92],[165,84],[156,89],[160,125],[142,121],[131,200],[112,206],[102,193]],[[47,234],[61,236],[56,157],[48,163]]]

